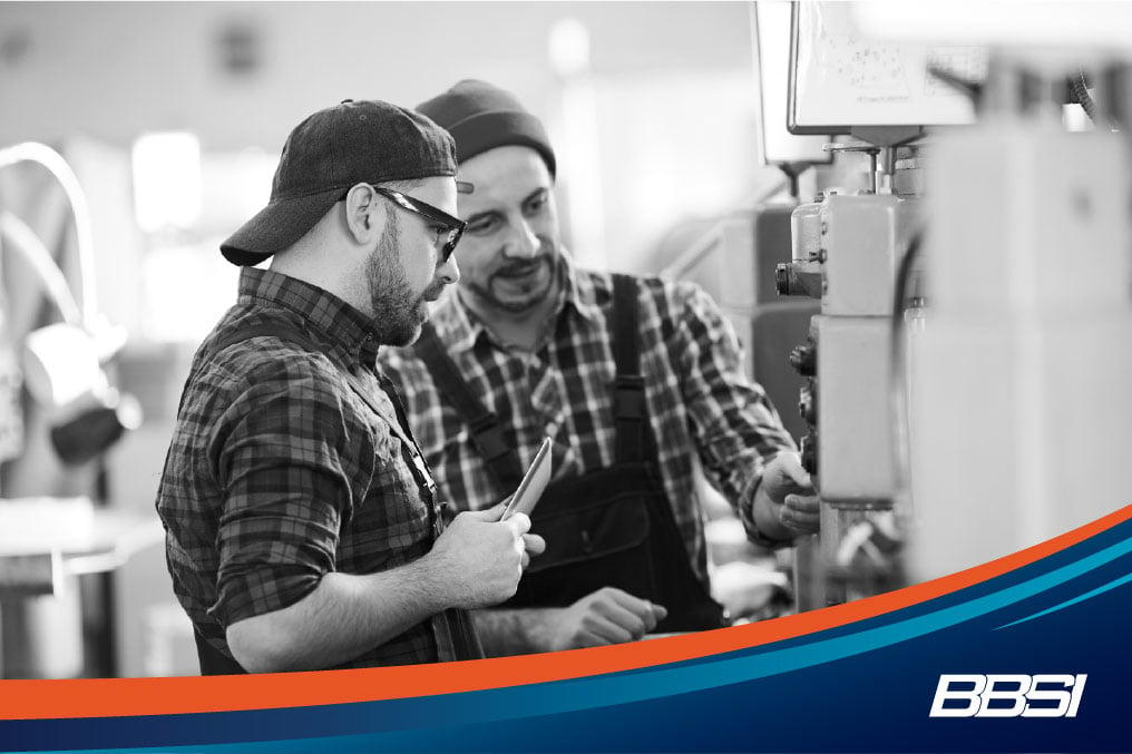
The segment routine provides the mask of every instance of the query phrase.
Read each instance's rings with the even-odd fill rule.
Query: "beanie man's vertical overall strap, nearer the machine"
[[[628,275],[614,275],[612,351],[617,366],[614,378],[614,420],[617,427],[617,462],[645,461],[648,409],[644,402],[644,379],[641,377],[641,352],[637,344],[636,281]]]

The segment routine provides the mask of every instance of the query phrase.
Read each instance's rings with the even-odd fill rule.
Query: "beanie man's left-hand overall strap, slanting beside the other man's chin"
[[[440,394],[456,406],[461,418],[468,422],[472,444],[496,480],[504,487],[518,483],[523,475],[518,454],[504,437],[499,417],[472,393],[432,325],[426,323],[421,328],[421,336],[413,344],[413,351],[432,374]]]

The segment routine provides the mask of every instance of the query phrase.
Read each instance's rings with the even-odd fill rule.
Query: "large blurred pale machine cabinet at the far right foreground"
[[[917,581],[1132,503],[1132,79],[1116,55],[1086,60],[996,54],[978,125],[934,146],[910,344]],[[1066,80],[1095,130],[1063,127]]]

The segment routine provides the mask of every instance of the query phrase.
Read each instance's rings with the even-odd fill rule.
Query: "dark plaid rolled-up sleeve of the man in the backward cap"
[[[223,626],[314,591],[335,569],[338,533],[354,505],[342,457],[351,430],[327,375],[276,363],[245,383],[212,438],[224,505],[217,599],[208,611]]]

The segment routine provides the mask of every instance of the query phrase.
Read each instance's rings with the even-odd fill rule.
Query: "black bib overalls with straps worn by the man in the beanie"
[[[531,531],[546,539],[547,550],[531,559],[515,597],[500,607],[566,607],[602,586],[616,586],[668,609],[658,633],[719,628],[728,625],[723,608],[692,571],[661,482],[641,377],[637,319],[634,280],[615,275],[614,465],[547,488],[531,515]],[[469,426],[500,488],[514,489],[522,478],[517,453],[431,326],[426,325],[414,350]]]

